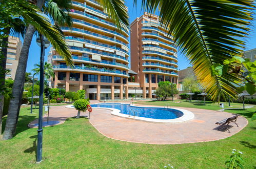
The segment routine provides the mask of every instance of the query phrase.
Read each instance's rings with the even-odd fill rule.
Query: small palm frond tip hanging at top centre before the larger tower
[[[111,16],[113,23],[119,30],[122,30],[124,27],[126,30],[129,30],[129,15],[128,8],[124,4],[123,0],[97,0]]]

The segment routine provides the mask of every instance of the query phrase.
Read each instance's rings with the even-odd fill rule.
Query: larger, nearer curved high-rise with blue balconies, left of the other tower
[[[86,90],[90,99],[128,98],[128,30],[118,30],[104,9],[93,0],[72,1],[72,28],[61,27],[75,67],[66,65],[55,49],[54,88]]]

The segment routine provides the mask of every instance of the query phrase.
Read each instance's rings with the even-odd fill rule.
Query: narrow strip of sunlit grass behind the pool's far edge
[[[171,107],[183,107],[183,108],[196,108],[196,109],[208,109],[208,110],[221,110],[220,105],[218,103],[212,103],[211,101],[205,101],[206,105],[204,105],[204,101],[196,101],[192,100],[186,101],[186,100],[166,100],[166,101],[156,101],[156,100],[150,100],[150,101],[137,101],[135,103],[137,104],[148,104],[148,105],[162,105],[165,104],[170,105]],[[250,104],[245,104],[250,105]],[[242,103],[230,103],[231,107],[228,107],[228,103],[224,103],[224,108],[242,108]]]

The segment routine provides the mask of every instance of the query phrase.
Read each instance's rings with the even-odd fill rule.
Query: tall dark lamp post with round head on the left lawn
[[[51,23],[50,18],[39,13],[41,16]],[[37,151],[36,151],[36,162],[40,163],[42,161],[42,147],[43,147],[43,104],[44,104],[44,57],[45,49],[50,46],[50,41],[45,39],[44,35],[39,34],[36,38],[36,44],[41,47],[40,53],[40,87],[39,87],[39,115],[38,115],[38,130],[37,130]]]

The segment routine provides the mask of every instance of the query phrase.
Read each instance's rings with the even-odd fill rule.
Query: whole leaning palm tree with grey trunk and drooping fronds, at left
[[[63,25],[64,21],[66,21],[65,23],[68,26],[72,25],[72,19],[68,15],[68,12],[71,7],[71,1],[47,0],[46,3],[48,4],[45,5],[44,0],[37,0],[36,6],[40,10],[42,10],[43,8],[44,12],[49,14],[52,19],[57,19],[54,21],[58,25]],[[63,12],[63,11],[66,11],[66,12]],[[20,109],[21,99],[23,94],[23,86],[24,86],[24,79],[25,79],[24,77],[25,77],[26,67],[27,67],[29,47],[30,47],[31,40],[35,30],[37,30],[42,35],[46,36],[46,38],[50,41],[50,43],[56,49],[56,51],[64,57],[64,60],[66,60],[67,65],[73,66],[71,53],[68,50],[68,47],[66,45],[63,32],[58,28],[57,25],[52,26],[50,23],[47,23],[47,21],[45,22],[48,25],[48,28],[43,28],[40,25],[41,23],[36,23],[35,26],[32,24],[29,24],[26,29],[24,43],[21,49],[21,54],[19,56],[18,66],[17,66],[16,75],[15,75],[14,84],[13,84],[13,91],[12,91],[13,98],[10,100],[6,127],[5,127],[4,136],[3,136],[3,139],[5,140],[11,139],[14,136],[16,131],[16,124],[18,121],[18,114],[19,114],[19,109]]]

